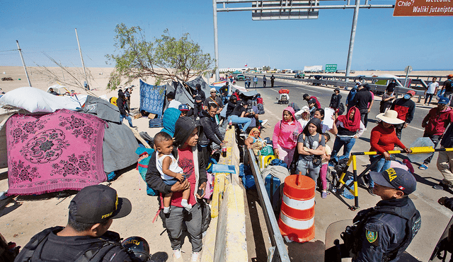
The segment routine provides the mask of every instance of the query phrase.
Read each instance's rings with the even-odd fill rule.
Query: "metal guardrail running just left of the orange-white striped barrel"
[[[268,227],[270,244],[272,244],[268,252],[268,262],[289,262],[285,242],[283,242],[282,234],[278,228],[277,219],[275,218],[274,210],[270,204],[268,193],[266,192],[264,186],[263,177],[261,177],[261,172],[258,164],[256,163],[256,157],[253,154],[253,150],[246,150],[246,155],[246,157],[248,157],[248,163],[252,169],[253,178],[255,179],[256,191],[258,191],[260,203],[263,205],[262,208],[264,218],[266,220],[266,226]]]

